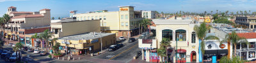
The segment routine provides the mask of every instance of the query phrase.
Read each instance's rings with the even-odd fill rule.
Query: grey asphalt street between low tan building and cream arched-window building
[[[133,59],[139,51],[138,40],[132,43],[127,43],[124,47],[119,48],[114,52],[106,52],[102,55],[96,56],[97,59],[117,60],[121,62],[129,62]]]

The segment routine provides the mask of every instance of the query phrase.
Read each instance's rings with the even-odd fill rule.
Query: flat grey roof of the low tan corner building
[[[58,39],[67,39],[67,40],[81,40],[81,39],[97,39],[104,36],[109,36],[111,34],[115,34],[115,33],[100,33],[100,32],[86,32],[83,34],[76,34],[76,35],[72,35],[72,36],[65,36],[65,37],[61,37]]]

